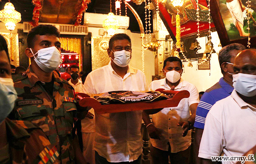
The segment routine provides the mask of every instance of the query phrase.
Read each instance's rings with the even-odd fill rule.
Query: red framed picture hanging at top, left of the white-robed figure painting
[[[157,1],[152,0],[154,6],[157,6]],[[159,2],[160,17],[165,24],[170,36],[173,40],[176,40],[176,15],[177,8],[173,7],[170,0],[166,0],[165,3]],[[199,0],[199,15],[200,24],[199,31],[207,32],[209,30],[208,24],[208,8],[206,0]],[[179,8],[181,18],[181,38],[197,34],[197,17],[196,17],[196,0],[185,0],[183,6]],[[215,28],[214,23],[211,23],[211,28]]]

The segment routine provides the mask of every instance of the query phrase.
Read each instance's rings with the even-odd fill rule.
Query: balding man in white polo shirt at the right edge
[[[256,50],[240,52],[234,60],[233,86],[230,96],[216,102],[208,112],[199,148],[199,157],[242,156],[256,143]],[[222,164],[234,164],[222,161]]]

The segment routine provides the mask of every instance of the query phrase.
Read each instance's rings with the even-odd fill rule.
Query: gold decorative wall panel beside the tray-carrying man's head
[[[110,58],[108,56],[109,37],[92,37],[91,39],[91,63],[92,69],[108,65]]]

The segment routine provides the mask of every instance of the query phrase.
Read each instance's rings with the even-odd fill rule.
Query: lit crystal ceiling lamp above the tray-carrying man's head
[[[102,27],[108,31],[110,36],[113,36],[116,29],[120,27],[119,21],[115,19],[114,13],[108,13],[107,19],[103,20]]]

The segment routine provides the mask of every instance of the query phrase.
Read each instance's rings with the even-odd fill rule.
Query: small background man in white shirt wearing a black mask
[[[71,78],[68,83],[75,89],[76,93],[82,92],[83,84],[82,81],[78,78],[79,75],[79,67],[77,65],[70,66],[70,74]]]

